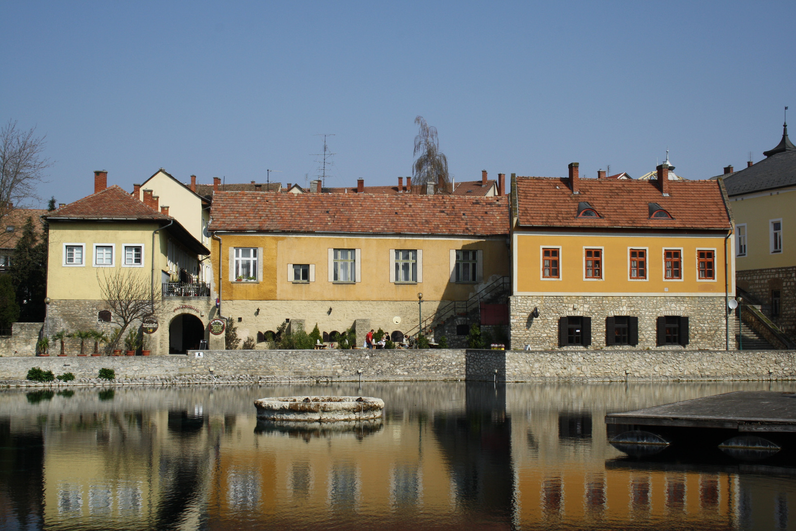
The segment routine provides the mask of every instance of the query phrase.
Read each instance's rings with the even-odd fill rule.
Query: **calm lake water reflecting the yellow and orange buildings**
[[[796,468],[631,459],[603,416],[796,384],[178,386],[0,392],[0,529],[796,529]],[[265,396],[384,400],[258,427]]]

